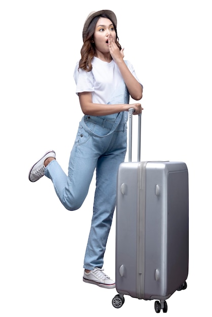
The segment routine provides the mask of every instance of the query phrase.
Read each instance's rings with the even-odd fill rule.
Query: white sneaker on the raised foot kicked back
[[[28,175],[28,179],[30,180],[30,182],[36,182],[37,180],[39,180],[41,177],[44,176],[44,161],[46,159],[48,159],[48,157],[56,157],[55,151],[48,151],[44,154],[43,157],[41,157],[41,159],[34,164],[30,171],[29,171],[29,175]]]

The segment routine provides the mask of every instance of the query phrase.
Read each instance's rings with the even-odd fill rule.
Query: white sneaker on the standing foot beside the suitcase
[[[116,284],[108,275],[102,272],[102,268],[95,267],[89,273],[84,270],[83,282],[98,285],[104,288],[115,288]]]

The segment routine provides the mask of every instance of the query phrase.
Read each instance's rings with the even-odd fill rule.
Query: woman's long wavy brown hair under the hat
[[[85,37],[84,37],[84,43],[81,49],[81,59],[79,62],[79,68],[84,69],[85,71],[91,71],[92,70],[92,64],[91,61],[93,57],[95,56],[95,44],[93,42],[93,34],[95,31],[96,23],[98,19],[102,18],[108,18],[114,26],[114,30],[116,32],[116,45],[118,46],[119,50],[121,50],[121,45],[119,44],[119,38],[117,35],[117,29],[115,23],[112,21],[111,18],[108,17],[107,14],[101,14],[95,17],[91,23],[88,26],[88,29],[86,31]]]

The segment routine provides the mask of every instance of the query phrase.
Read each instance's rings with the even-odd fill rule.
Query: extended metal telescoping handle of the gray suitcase
[[[129,162],[132,162],[132,116],[134,108],[129,110]],[[137,136],[137,162],[140,162],[140,134],[142,131],[142,113],[138,114],[138,136]]]

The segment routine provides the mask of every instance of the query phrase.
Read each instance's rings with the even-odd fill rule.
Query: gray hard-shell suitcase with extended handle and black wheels
[[[132,112],[129,111],[129,162],[120,165],[116,207],[116,290],[112,304],[124,295],[155,301],[167,311],[166,299],[187,288],[189,263],[189,189],[184,162],[131,162]]]

